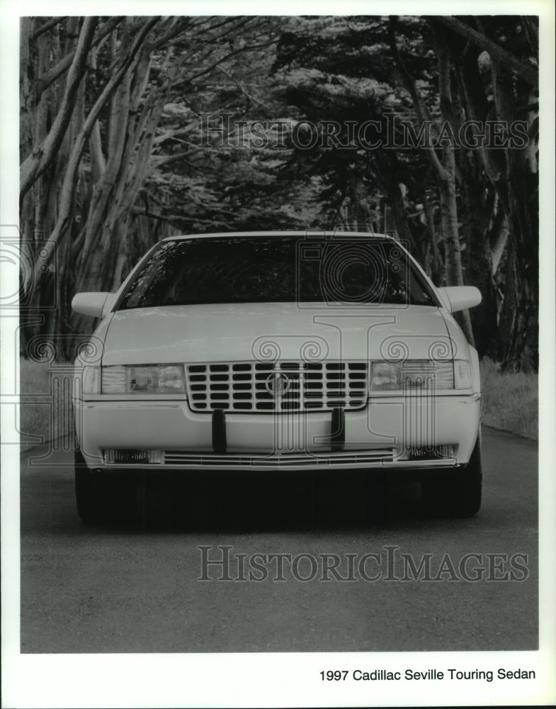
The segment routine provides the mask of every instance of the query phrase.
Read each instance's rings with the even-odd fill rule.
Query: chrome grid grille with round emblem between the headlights
[[[186,364],[193,411],[330,411],[363,408],[367,362]]]

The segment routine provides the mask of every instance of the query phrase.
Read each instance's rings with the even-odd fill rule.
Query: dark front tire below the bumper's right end
[[[481,435],[463,469],[430,473],[421,481],[426,508],[438,516],[472,517],[481,507]]]

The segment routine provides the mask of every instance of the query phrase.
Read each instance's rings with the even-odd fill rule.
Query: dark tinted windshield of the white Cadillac
[[[118,309],[271,302],[436,304],[393,240],[253,235],[161,242]]]

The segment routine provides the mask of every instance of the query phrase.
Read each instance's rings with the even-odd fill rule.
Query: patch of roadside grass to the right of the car
[[[499,372],[483,359],[481,379],[482,423],[538,440],[538,375]]]

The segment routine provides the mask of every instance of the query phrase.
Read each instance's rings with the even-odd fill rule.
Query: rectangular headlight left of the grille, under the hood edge
[[[154,364],[147,367],[102,367],[103,394],[183,394],[183,367]]]

